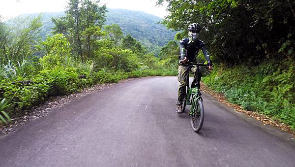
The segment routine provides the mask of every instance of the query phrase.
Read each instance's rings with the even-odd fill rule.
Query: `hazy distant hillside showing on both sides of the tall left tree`
[[[149,48],[149,50],[158,50],[160,47],[167,44],[169,40],[173,40],[175,32],[168,30],[164,25],[158,24],[161,21],[160,17],[142,12],[132,11],[126,9],[108,9],[106,25],[118,24],[122,32],[126,35],[130,33],[134,38],[141,41],[142,44]],[[40,13],[24,14],[17,18],[13,18],[7,21],[9,24],[13,24],[15,20],[24,17],[36,17]],[[42,30],[41,37],[45,39],[46,36],[51,35],[54,23],[51,21],[51,17],[63,16],[64,12],[56,13],[42,13]]]

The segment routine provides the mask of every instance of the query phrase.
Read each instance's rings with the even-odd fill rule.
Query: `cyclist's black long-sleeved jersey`
[[[179,60],[182,60],[184,59],[184,57],[187,57],[189,61],[195,61],[196,56],[199,53],[199,50],[202,49],[207,62],[208,63],[211,62],[205,43],[202,40],[197,39],[193,41],[193,40],[190,40],[188,37],[186,37],[180,40],[179,45],[180,45]]]

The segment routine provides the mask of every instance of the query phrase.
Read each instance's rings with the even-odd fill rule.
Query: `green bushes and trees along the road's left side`
[[[92,0],[69,0],[65,16],[52,18],[53,35],[44,41],[41,16],[9,25],[0,19],[0,124],[50,96],[131,77],[177,74],[177,56],[159,59],[148,53],[117,24],[104,25],[106,12]]]

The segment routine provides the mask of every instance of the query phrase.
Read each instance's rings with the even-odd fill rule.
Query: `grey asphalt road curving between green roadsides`
[[[0,139],[3,167],[295,167],[290,134],[203,94],[200,133],[177,114],[177,78],[129,80]]]

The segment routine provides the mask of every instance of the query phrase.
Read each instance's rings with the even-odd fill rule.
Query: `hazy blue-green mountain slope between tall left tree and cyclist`
[[[158,52],[160,47],[173,40],[176,32],[159,24],[162,19],[140,11],[108,9],[106,24],[118,24],[124,35],[130,34],[148,51]]]

